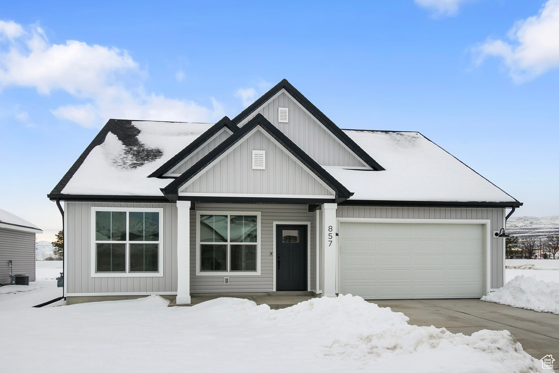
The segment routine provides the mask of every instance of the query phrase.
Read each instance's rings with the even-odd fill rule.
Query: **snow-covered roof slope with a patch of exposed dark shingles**
[[[107,131],[61,191],[67,195],[160,196],[169,179],[148,177],[212,125],[128,121]]]

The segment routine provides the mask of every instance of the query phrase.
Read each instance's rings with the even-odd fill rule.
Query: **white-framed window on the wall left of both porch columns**
[[[93,207],[92,276],[163,276],[163,209]]]

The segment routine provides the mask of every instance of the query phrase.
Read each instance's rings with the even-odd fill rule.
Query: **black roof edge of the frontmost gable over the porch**
[[[208,153],[205,157],[200,159],[194,166],[184,172],[180,177],[171,182],[167,187],[162,189],[162,192],[169,200],[178,199],[178,190],[186,182],[195,177],[198,173],[203,171],[207,166],[209,166],[214,160],[220,157],[226,150],[234,147],[240,140],[242,140],[250,131],[259,126],[274,139],[278,141],[284,148],[286,148],[295,158],[299,159],[307,168],[316,174],[326,183],[330,188],[336,192],[336,199],[345,200],[348,199],[352,193],[347,190],[339,181],[335,180],[328,172],[324,170],[318,163],[309,157],[301,148],[297,147],[293,141],[287,138],[280,130],[273,126],[263,115],[258,114],[247,124],[241,127],[240,130],[236,131],[227,140],[218,145],[214,150]]]

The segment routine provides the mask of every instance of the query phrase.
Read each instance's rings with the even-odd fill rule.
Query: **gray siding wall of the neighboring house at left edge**
[[[10,265],[14,275],[27,275],[35,281],[35,233],[0,228],[0,284],[10,284]]]

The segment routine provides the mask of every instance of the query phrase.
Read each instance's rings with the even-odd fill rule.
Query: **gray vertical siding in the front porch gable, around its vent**
[[[266,169],[252,169],[252,150],[266,151]],[[258,128],[179,192],[334,196],[312,171]]]

